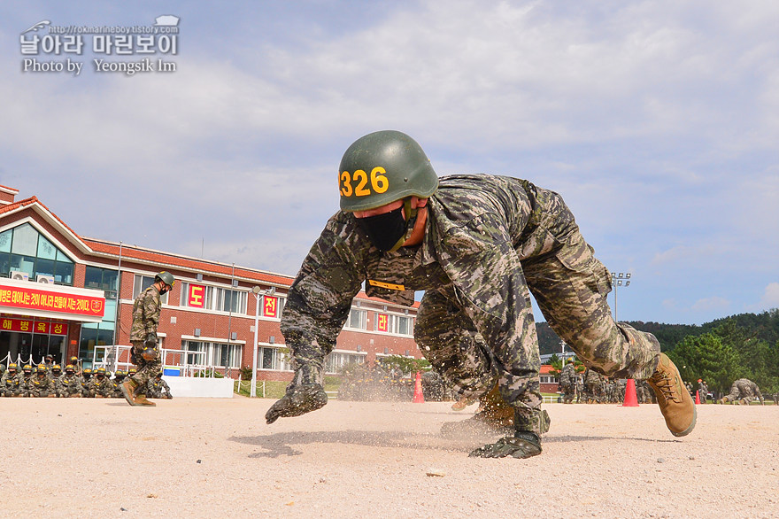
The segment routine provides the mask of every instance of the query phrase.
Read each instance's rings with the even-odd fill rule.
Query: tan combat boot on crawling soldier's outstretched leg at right
[[[697,412],[682,376],[665,353],[660,353],[657,369],[647,379],[657,395],[660,413],[674,436],[686,436],[695,428]]]

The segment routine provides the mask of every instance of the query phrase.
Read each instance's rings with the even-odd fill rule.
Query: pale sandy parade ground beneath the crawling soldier
[[[469,458],[450,403],[0,399],[4,517],[776,517],[779,407],[548,405],[544,453]]]

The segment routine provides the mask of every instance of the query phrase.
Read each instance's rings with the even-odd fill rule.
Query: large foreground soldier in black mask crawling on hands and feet
[[[397,131],[352,143],[337,180],[341,211],[305,258],[282,314],[295,374],[267,423],[327,404],[324,362],[365,283],[368,296],[406,306],[424,290],[414,329],[420,351],[459,395],[494,389],[513,413],[513,436],[472,456],[541,453],[549,422],[531,292],[587,367],[649,379],[671,433],[693,429],[695,403],[678,370],[652,334],[613,321],[611,276],[557,193],[488,174],[439,181],[419,143]]]

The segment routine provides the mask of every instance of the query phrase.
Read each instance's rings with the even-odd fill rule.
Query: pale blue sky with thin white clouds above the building
[[[78,76],[22,70],[43,19],[163,14],[174,73],[87,51]],[[399,129],[440,175],[558,191],[633,275],[621,320],[759,313],[779,307],[776,27],[774,0],[6,3],[0,184],[81,236],[294,275],[343,151]]]

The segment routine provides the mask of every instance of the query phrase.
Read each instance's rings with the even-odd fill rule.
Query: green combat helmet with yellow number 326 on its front
[[[438,176],[419,143],[394,130],[360,137],[338,170],[341,210],[366,211],[413,195],[428,198]]]

